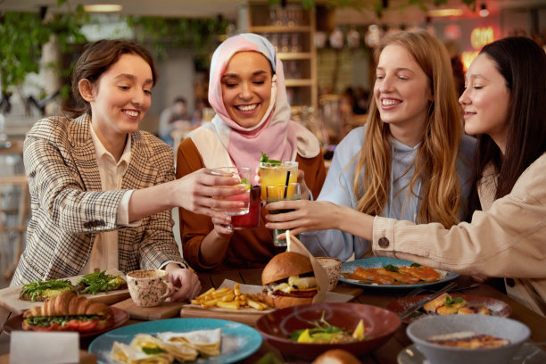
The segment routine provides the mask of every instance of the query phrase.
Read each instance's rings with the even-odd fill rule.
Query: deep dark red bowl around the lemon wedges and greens
[[[313,327],[309,321],[318,321],[322,312],[328,323],[352,331],[360,321],[370,337],[354,343],[297,343],[290,339],[294,330]],[[350,302],[323,302],[304,304],[275,310],[263,315],[256,322],[256,328],[266,340],[283,353],[304,360],[313,360],[322,352],[343,349],[359,357],[384,344],[400,327],[398,315],[390,310],[368,304]]]

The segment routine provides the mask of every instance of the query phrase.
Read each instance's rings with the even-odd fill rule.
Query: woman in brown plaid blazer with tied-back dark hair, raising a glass
[[[156,80],[152,55],[128,40],[96,41],[79,57],[72,75],[77,104],[37,121],[25,139],[32,218],[11,285],[95,269],[165,269],[178,287],[171,300],[199,292],[170,210],[221,218],[211,207],[234,203],[210,196],[235,194],[239,188],[215,186],[238,181],[203,170],[174,180],[170,146],[138,130]]]

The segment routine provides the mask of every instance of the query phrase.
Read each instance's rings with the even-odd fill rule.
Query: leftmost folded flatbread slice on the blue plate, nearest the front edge
[[[126,343],[114,342],[111,352],[112,360],[122,364],[171,364],[174,357],[168,352],[155,347],[137,348]]]

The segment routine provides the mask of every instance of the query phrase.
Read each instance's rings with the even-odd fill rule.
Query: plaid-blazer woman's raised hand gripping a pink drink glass
[[[177,205],[188,211],[210,216],[220,220],[226,220],[226,215],[215,209],[235,209],[244,207],[240,201],[227,201],[212,198],[227,197],[234,194],[243,194],[244,186],[236,186],[240,183],[237,178],[213,176],[206,173],[205,169],[196,170],[183,178],[174,181]]]

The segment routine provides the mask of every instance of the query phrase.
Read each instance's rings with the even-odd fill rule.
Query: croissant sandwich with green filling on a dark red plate
[[[110,306],[92,302],[74,291],[63,291],[23,314],[22,328],[34,331],[99,331],[112,327]]]

